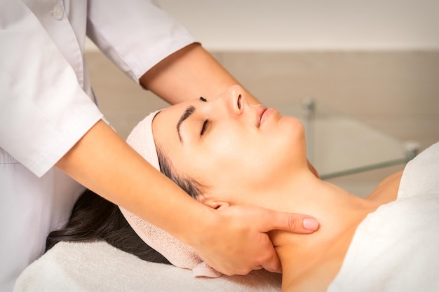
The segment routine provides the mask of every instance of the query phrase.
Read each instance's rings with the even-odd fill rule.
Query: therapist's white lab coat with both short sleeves
[[[137,83],[195,41],[151,0],[0,1],[0,291],[41,256],[83,190],[54,165],[102,118],[86,34]]]

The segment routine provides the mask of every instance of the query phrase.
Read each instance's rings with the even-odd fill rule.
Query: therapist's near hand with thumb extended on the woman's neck
[[[302,214],[242,205],[214,211],[216,219],[203,231],[203,236],[198,237],[203,242],[196,244],[196,251],[208,265],[227,275],[248,274],[261,268],[282,272],[267,232],[312,233],[318,229],[316,218]]]

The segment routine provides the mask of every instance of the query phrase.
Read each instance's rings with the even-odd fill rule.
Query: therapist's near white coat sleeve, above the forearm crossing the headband
[[[0,1],[0,147],[42,176],[102,113],[21,1]]]

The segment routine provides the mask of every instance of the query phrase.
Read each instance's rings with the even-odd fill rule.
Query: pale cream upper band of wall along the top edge
[[[437,0],[157,0],[210,50],[439,48]]]

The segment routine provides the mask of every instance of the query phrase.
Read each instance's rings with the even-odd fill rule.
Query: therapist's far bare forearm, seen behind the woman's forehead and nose
[[[240,84],[199,43],[166,57],[147,71],[140,83],[170,104],[201,96],[214,99],[231,85]],[[250,103],[259,103],[250,92],[246,94]]]

